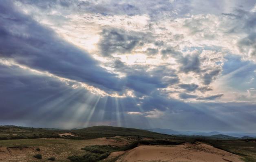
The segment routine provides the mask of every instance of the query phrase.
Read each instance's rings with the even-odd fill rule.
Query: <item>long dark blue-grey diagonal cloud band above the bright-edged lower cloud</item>
[[[116,76],[99,67],[88,53],[16,11],[11,1],[0,4],[1,57],[64,78],[121,90],[120,86],[115,86],[118,82]]]

